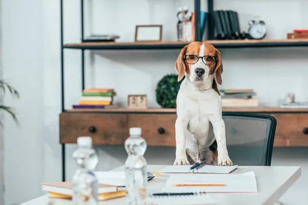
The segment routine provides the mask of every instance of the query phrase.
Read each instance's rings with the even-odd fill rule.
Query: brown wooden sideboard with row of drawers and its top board
[[[308,109],[223,109],[271,115],[277,120],[275,147],[308,146]],[[142,128],[148,146],[175,146],[175,109],[67,110],[60,114],[60,143],[91,136],[95,145],[124,145],[129,128]]]

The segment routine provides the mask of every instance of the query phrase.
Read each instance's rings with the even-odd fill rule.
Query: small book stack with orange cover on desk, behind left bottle
[[[72,199],[73,195],[71,181],[43,183],[42,190],[48,192],[50,198]],[[126,196],[125,188],[103,184],[98,187],[98,199],[100,201],[124,196]]]

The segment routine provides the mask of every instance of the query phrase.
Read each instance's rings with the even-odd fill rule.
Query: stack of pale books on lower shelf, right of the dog
[[[220,90],[223,108],[258,107],[254,90]]]

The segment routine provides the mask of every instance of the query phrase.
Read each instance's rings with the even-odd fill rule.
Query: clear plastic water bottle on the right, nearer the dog
[[[146,141],[141,137],[141,128],[130,128],[125,141],[128,157],[125,161],[126,202],[129,205],[146,203],[147,163],[143,154]]]

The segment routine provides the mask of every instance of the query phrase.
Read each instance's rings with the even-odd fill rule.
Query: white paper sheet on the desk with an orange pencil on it
[[[221,187],[174,187],[172,185],[225,185]],[[208,193],[257,193],[257,181],[254,172],[248,174],[177,174],[171,175],[163,189],[164,192],[208,192]]]

